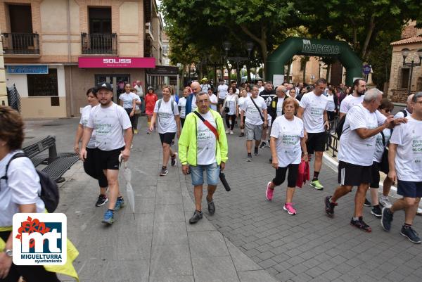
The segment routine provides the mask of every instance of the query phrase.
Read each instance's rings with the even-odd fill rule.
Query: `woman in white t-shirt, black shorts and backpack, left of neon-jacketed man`
[[[157,131],[160,135],[162,146],[162,167],[160,176],[167,175],[167,163],[172,158],[172,167],[176,165],[177,153],[170,148],[174,136],[180,136],[180,117],[179,108],[176,101],[170,99],[172,94],[171,86],[162,86],[162,99],[155,102],[153,118],[151,119],[150,131],[153,132],[155,123],[157,123]]]

